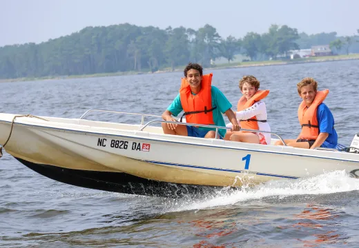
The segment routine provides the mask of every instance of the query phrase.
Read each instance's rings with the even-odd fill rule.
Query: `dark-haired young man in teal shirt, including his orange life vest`
[[[231,110],[231,103],[226,96],[212,86],[212,74],[203,75],[203,68],[197,63],[188,63],[184,68],[179,94],[171,105],[162,114],[164,121],[177,121],[177,116],[184,110],[186,123],[217,125],[225,127],[222,113],[226,114],[233,124],[233,131],[240,130],[235,114]],[[177,125],[175,123],[162,123],[164,134],[193,136],[200,138],[215,138],[215,128],[195,127],[190,125]],[[226,134],[225,129],[218,130],[220,138]]]

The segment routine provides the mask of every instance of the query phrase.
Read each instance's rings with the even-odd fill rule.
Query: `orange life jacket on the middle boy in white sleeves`
[[[255,102],[264,99],[268,96],[269,90],[258,90],[255,94],[247,101],[246,96],[242,96],[237,104],[237,112],[245,110],[251,107]],[[257,120],[255,116],[248,120],[240,120],[240,126],[244,129],[259,130],[258,121],[266,122],[266,120]],[[245,131],[244,131],[245,132]]]

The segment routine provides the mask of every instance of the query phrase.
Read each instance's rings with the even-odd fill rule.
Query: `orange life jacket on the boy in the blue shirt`
[[[302,132],[299,137],[307,140],[315,140],[319,135],[319,126],[317,119],[318,105],[327,97],[329,90],[318,91],[310,107],[302,101],[298,107],[299,123],[302,125]]]

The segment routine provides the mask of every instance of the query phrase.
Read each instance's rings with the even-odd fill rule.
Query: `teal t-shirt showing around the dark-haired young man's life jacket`
[[[226,123],[224,123],[224,118],[222,113],[229,110],[232,107],[232,105],[228,101],[228,99],[226,99],[226,96],[224,96],[224,94],[217,87],[215,86],[211,87],[211,94],[212,94],[212,107],[217,106],[217,108],[213,110],[213,121],[215,125],[225,127]],[[179,94],[176,96],[175,100],[173,100],[171,105],[167,107],[167,110],[171,112],[174,116],[177,116],[180,112],[182,112],[183,107],[181,104],[181,98]],[[198,128],[215,131],[215,128],[210,128],[210,127],[198,127]],[[221,134],[222,137],[226,135],[225,129],[223,130],[220,129],[218,130],[218,132]]]

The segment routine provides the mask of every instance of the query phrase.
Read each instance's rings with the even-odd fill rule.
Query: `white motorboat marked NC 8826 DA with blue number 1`
[[[84,118],[94,111],[116,112],[88,110],[80,118],[0,114],[0,143],[48,178],[146,196],[204,194],[334,170],[359,176],[358,134],[347,152],[300,149],[168,135],[153,126],[160,119],[144,124],[151,114],[116,112],[141,116],[138,125]]]

